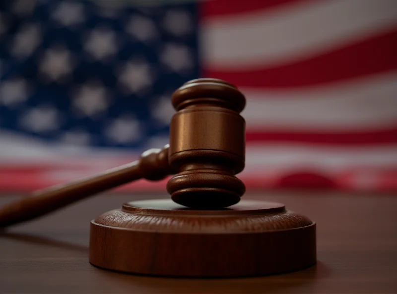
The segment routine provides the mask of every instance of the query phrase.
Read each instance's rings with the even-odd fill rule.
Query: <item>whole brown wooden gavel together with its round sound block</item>
[[[236,277],[316,263],[316,224],[281,203],[244,199],[244,95],[219,79],[185,83],[171,98],[170,144],[138,161],[50,187],[0,210],[0,227],[144,178],[172,177],[171,199],[131,201],[90,223],[89,262],[126,273]]]

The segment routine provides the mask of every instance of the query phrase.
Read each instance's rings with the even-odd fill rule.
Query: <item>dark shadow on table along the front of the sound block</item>
[[[100,275],[112,276],[112,280],[117,281],[120,286],[133,286],[144,290],[142,293],[175,294],[309,293],[316,289],[320,279],[331,275],[331,270],[321,261],[297,272],[248,278],[191,279],[132,275],[101,269],[98,271]]]

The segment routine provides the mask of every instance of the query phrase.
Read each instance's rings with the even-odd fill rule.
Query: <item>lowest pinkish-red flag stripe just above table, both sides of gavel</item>
[[[367,191],[397,191],[397,170],[379,169],[369,171],[377,180],[371,185],[360,187],[356,179],[368,169],[353,171],[342,171],[335,175],[326,175],[317,171],[302,170],[268,170],[264,166],[264,172],[244,172],[238,177],[246,185],[247,191],[277,188],[334,188],[339,190],[367,190]],[[165,192],[165,185],[168,178],[159,182],[139,180],[112,190],[115,192]],[[65,181],[62,181],[65,182]],[[67,181],[66,181],[67,182]],[[48,179],[45,173],[36,173],[19,176],[0,177],[0,192],[32,192],[52,185],[59,184],[59,181]],[[302,187],[305,184],[305,187]],[[1,193],[1,195],[7,195]]]

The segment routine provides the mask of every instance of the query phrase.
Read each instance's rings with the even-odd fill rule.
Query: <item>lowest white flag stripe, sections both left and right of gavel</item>
[[[9,147],[22,147],[24,143],[28,142],[17,141],[10,144]],[[25,167],[35,166],[37,163],[43,166],[46,166],[46,164],[60,164],[66,168],[66,171],[75,168],[82,172],[93,173],[125,164],[138,157],[136,153],[130,153],[127,156],[123,152],[102,153],[95,149],[92,150],[91,156],[86,156],[85,152],[72,155],[65,154],[60,149],[53,149],[51,152],[50,149],[42,149],[36,144],[32,146],[35,149],[34,152],[23,152],[22,157],[17,156],[18,152],[16,151],[10,152],[8,153],[10,156],[6,156],[7,153],[3,152],[5,150],[1,147],[3,146],[0,146],[0,168],[4,164],[7,166]],[[27,149],[19,150],[27,151]],[[21,154],[19,153],[19,155]],[[95,158],[95,156],[97,157]],[[88,169],[86,170],[84,167]],[[82,170],[81,168],[84,169]],[[332,173],[351,168],[397,168],[397,145],[324,147],[311,144],[252,143],[246,147],[246,168],[243,173],[264,173],[282,169],[298,171],[315,169]]]

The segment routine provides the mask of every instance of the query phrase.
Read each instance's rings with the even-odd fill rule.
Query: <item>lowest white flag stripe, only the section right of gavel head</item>
[[[245,171],[316,168],[397,168],[397,145],[376,147],[313,147],[303,144],[260,144],[246,147]]]

